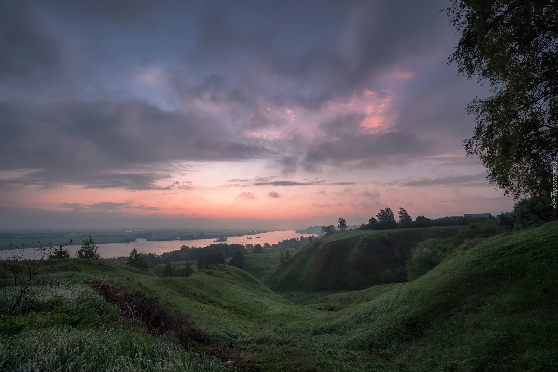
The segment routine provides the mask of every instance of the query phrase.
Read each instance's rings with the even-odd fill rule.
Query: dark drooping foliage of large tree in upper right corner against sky
[[[549,194],[558,157],[558,3],[453,0],[446,11],[461,36],[450,62],[493,93],[469,104],[475,129],[465,152],[504,195]]]

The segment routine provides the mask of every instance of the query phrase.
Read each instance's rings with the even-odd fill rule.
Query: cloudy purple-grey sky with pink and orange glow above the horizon
[[[449,6],[0,0],[0,228],[511,210],[461,146],[489,93]]]

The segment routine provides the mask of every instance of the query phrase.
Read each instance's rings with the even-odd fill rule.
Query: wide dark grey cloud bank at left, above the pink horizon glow
[[[0,130],[9,139],[0,148],[0,170],[39,168],[3,183],[161,189],[155,183],[170,178],[166,162],[246,160],[267,152],[231,141],[222,124],[203,114],[163,112],[138,101],[3,102]]]

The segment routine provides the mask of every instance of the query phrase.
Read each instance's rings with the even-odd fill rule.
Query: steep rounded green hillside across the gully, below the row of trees
[[[448,238],[458,227],[338,231],[300,250],[264,279],[273,291],[354,291],[381,284],[428,238]],[[383,281],[384,283],[386,281]]]

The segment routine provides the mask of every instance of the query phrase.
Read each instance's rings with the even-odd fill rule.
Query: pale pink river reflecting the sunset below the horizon
[[[304,236],[305,238],[311,236],[312,234],[297,234],[294,230],[283,230],[283,231],[270,231],[269,233],[257,234],[257,235],[244,235],[244,236],[231,236],[224,243],[232,244],[263,244],[270,243],[276,244],[277,241],[300,238]],[[259,236],[259,238],[256,238]],[[252,238],[252,239],[249,239]],[[184,244],[188,247],[206,247],[209,244],[214,244],[215,239],[200,239],[200,240],[164,240],[164,241],[148,241],[145,239],[137,239],[132,241],[132,243],[105,243],[97,244],[97,252],[100,253],[101,257],[120,257],[127,256],[133,248],[136,248],[142,253],[157,253],[161,254],[164,252],[169,252],[171,250],[180,249]],[[79,249],[79,245],[70,245],[68,247],[73,256],[75,256],[76,250]],[[27,249],[25,256],[27,257],[33,249]],[[2,250],[0,251],[0,259],[7,259],[12,256],[12,250]]]

